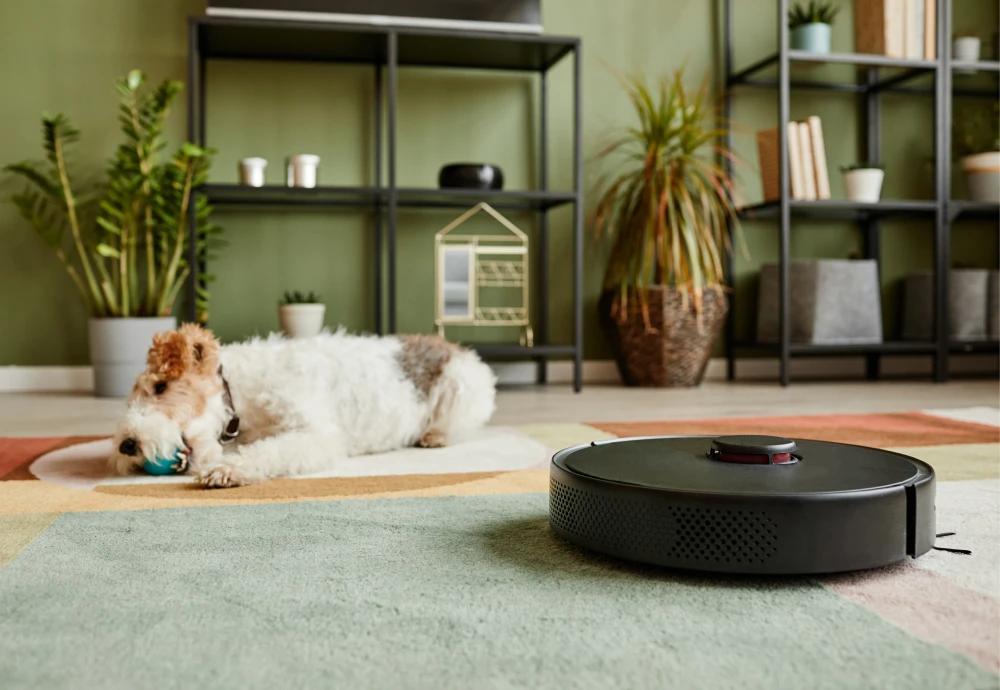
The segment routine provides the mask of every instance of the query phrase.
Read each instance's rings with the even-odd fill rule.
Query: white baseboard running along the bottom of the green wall
[[[535,382],[535,364],[532,362],[494,362],[499,381],[503,385],[529,385]],[[993,355],[952,357],[949,371],[963,374],[995,374],[997,358]],[[890,378],[930,376],[931,361],[927,356],[886,356],[882,358],[882,374]],[[861,357],[814,357],[792,360],[792,378],[861,379],[865,375],[865,362]],[[778,378],[777,359],[740,359],[736,362],[738,381],[775,381]],[[706,381],[726,380],[726,360],[712,359],[705,372]],[[568,384],[573,381],[573,363],[557,360],[549,364],[549,383]],[[586,360],[583,363],[583,381],[587,384],[620,383],[615,363],[608,359]],[[32,392],[90,392],[94,389],[94,373],[89,366],[75,367],[18,367],[0,366],[0,393]]]

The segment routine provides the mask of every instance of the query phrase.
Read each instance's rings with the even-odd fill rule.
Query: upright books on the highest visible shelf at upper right
[[[937,0],[854,0],[854,50],[936,60]]]

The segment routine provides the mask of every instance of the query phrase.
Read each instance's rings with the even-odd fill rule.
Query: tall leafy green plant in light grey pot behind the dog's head
[[[195,190],[206,178],[209,149],[183,144],[161,160],[164,122],[180,82],[143,90],[145,76],[132,71],[116,80],[118,121],[124,141],[103,184],[85,186],[71,165],[80,138],[64,115],[42,117],[43,161],[5,170],[27,184],[12,201],[56,257],[90,313],[94,390],[102,397],[129,394],[145,369],[153,335],[176,328],[174,303],[192,270],[188,228],[196,221],[196,253],[218,243],[206,198]],[[191,214],[193,207],[193,214]],[[207,293],[194,297],[207,318]]]

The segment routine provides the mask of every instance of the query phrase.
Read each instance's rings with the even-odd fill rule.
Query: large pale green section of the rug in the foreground
[[[0,570],[13,688],[992,688],[799,579],[557,541],[544,494],[61,516]]]

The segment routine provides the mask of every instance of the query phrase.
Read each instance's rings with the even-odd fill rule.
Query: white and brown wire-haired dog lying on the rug
[[[206,487],[317,472],[350,456],[439,447],[493,414],[496,379],[436,336],[278,336],[221,347],[189,324],[158,334],[111,467],[179,459]]]

